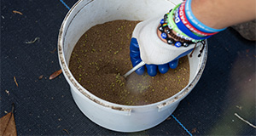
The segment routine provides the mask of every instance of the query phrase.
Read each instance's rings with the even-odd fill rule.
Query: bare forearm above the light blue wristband
[[[255,0],[192,0],[195,17],[206,26],[222,29],[256,18]]]

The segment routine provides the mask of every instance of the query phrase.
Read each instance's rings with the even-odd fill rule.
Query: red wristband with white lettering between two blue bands
[[[182,20],[183,24],[189,28],[190,31],[193,31],[195,32],[196,34],[199,34],[201,36],[212,36],[212,35],[215,35],[217,34],[218,32],[212,32],[212,33],[207,33],[207,32],[202,32],[202,31],[199,31],[197,30],[194,26],[192,26],[189,21],[187,20],[187,17],[186,17],[186,14],[185,14],[185,3],[186,2],[183,2],[180,7],[179,7],[179,17],[180,17],[180,20]]]

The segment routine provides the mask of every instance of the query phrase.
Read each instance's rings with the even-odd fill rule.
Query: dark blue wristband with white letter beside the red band
[[[186,34],[187,36],[195,39],[195,40],[203,40],[203,39],[206,39],[206,38],[209,38],[209,37],[212,37],[212,36],[207,36],[207,37],[198,37],[196,36],[192,31],[190,31],[184,24],[183,22],[181,21],[180,17],[179,17],[179,8],[177,8],[177,11],[175,13],[175,23],[177,25],[177,28],[180,30],[180,31],[183,31],[184,34]]]

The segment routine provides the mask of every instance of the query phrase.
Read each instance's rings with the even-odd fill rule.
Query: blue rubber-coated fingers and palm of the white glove
[[[160,73],[165,74],[169,70],[169,68],[172,68],[172,69],[177,68],[178,59],[183,56],[186,56],[192,50],[193,50],[193,48],[189,49],[188,51],[184,52],[183,54],[180,54],[179,56],[177,56],[177,58],[173,59],[172,61],[170,61],[169,63],[166,63],[164,65],[147,65],[146,64],[146,67],[148,70],[148,75],[151,77],[154,77],[154,76],[156,76],[157,71],[160,71]],[[131,38],[130,58],[131,58],[131,63],[132,63],[133,67],[142,61],[142,59],[140,57],[139,45],[138,45],[137,39],[135,37]],[[145,65],[143,65],[142,67],[137,69],[136,73],[138,75],[143,75],[144,71],[145,71]]]

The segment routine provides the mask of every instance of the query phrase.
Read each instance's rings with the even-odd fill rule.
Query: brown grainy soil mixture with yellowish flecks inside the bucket
[[[188,57],[179,59],[177,69],[149,77],[131,70],[129,46],[138,21],[114,20],[93,26],[73,49],[69,68],[91,94],[120,105],[148,105],[170,98],[189,82]]]

